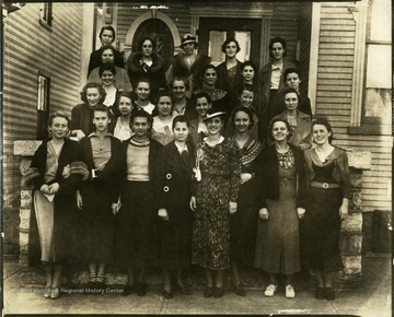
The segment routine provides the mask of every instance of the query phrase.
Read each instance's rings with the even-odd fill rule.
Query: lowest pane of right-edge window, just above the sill
[[[391,124],[392,91],[367,89],[366,118],[380,118],[382,124]]]

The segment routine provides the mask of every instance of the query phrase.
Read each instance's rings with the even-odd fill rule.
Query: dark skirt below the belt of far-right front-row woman
[[[339,250],[341,199],[340,188],[309,188],[306,212],[300,222],[305,269],[332,272],[344,268]]]

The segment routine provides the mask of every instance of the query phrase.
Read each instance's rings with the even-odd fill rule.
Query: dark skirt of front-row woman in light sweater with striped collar
[[[150,181],[126,181],[117,219],[116,250],[123,267],[155,266],[158,210]]]

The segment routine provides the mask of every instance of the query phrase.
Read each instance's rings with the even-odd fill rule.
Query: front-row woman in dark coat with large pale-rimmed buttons
[[[159,266],[163,268],[163,295],[172,298],[171,271],[174,271],[179,291],[189,295],[190,291],[182,281],[182,271],[190,265],[192,221],[189,208],[192,168],[195,149],[188,142],[189,122],[185,116],[173,120],[175,140],[164,146],[158,172],[158,215],[159,215]]]

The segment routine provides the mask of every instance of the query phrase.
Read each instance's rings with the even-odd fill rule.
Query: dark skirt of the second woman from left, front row
[[[86,262],[109,262],[115,243],[115,215],[107,184],[86,181],[81,189],[84,228],[83,258]]]

